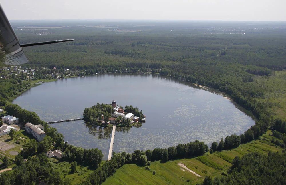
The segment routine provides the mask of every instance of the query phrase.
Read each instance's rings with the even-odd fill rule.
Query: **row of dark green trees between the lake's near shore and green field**
[[[187,144],[178,144],[176,147],[172,146],[166,148],[155,148],[154,150],[140,151],[135,150],[132,154],[126,154],[126,152],[114,153],[111,160],[106,161],[102,166],[98,167],[86,181],[81,185],[101,184],[113,175],[118,168],[124,164],[138,164],[145,166],[148,161],[161,160],[167,162],[168,160],[174,160],[178,158],[188,158],[194,156],[203,155],[208,151],[208,146],[204,142],[196,140]],[[150,162],[148,162],[150,165]]]

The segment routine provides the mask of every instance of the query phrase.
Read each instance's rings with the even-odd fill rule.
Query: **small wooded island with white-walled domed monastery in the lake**
[[[84,122],[96,126],[116,125],[121,127],[131,127],[146,122],[146,116],[142,110],[132,105],[122,106],[113,100],[111,104],[99,104],[85,108],[83,113]]]

